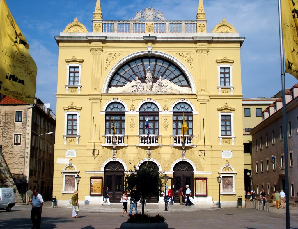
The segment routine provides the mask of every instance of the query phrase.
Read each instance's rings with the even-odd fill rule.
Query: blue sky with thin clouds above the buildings
[[[50,103],[56,113],[59,35],[75,17],[92,31],[96,0],[6,0],[16,23],[25,35],[35,60],[35,96]],[[128,20],[136,12],[153,7],[168,20],[195,20],[199,0],[101,0],[104,20]],[[271,97],[281,90],[277,0],[204,0],[207,32],[226,18],[240,36],[242,93],[244,98]],[[298,80],[286,74],[286,87]]]

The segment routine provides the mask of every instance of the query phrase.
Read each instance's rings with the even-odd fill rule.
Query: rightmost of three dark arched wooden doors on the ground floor
[[[193,167],[190,163],[181,161],[178,162],[173,169],[173,199],[175,203],[179,203],[178,192],[180,187],[183,187],[183,192],[185,193],[185,186],[189,185],[191,193],[194,193],[193,189]]]

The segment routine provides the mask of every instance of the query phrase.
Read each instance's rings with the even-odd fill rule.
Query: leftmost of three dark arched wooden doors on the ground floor
[[[110,202],[120,202],[124,191],[124,168],[123,165],[117,161],[109,162],[105,166],[104,172],[104,187],[109,188]]]

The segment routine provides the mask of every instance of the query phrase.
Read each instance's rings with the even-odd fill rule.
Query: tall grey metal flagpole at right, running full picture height
[[[288,170],[288,136],[287,136],[287,121],[286,121],[286,103],[285,103],[285,53],[283,44],[283,27],[281,17],[281,0],[278,2],[278,19],[280,31],[280,69],[281,69],[281,85],[283,97],[283,136],[284,136],[284,155],[285,155],[285,213],[286,213],[286,228],[290,228],[290,206],[289,206],[289,170]]]

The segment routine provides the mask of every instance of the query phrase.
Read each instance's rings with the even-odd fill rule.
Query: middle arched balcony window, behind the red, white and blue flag
[[[139,110],[139,135],[147,134],[147,128],[145,127],[147,113],[149,115],[149,134],[159,134],[159,109],[152,102],[144,103]]]

